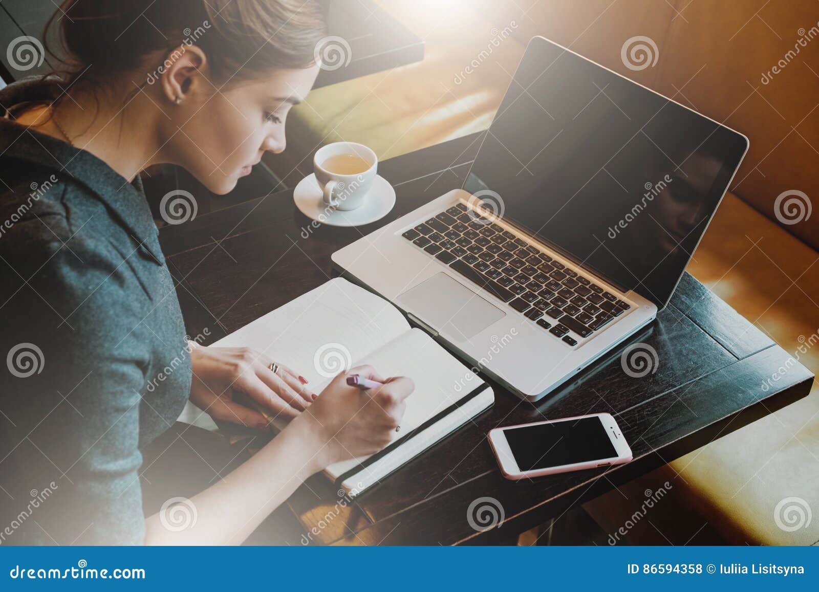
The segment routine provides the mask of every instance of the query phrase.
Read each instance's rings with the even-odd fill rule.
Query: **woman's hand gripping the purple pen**
[[[361,391],[348,386],[346,377],[360,374],[384,386]],[[382,378],[372,366],[358,366],[333,378],[318,400],[294,419],[287,429],[303,429],[316,446],[314,469],[373,454],[396,436],[415,385],[408,377]]]

